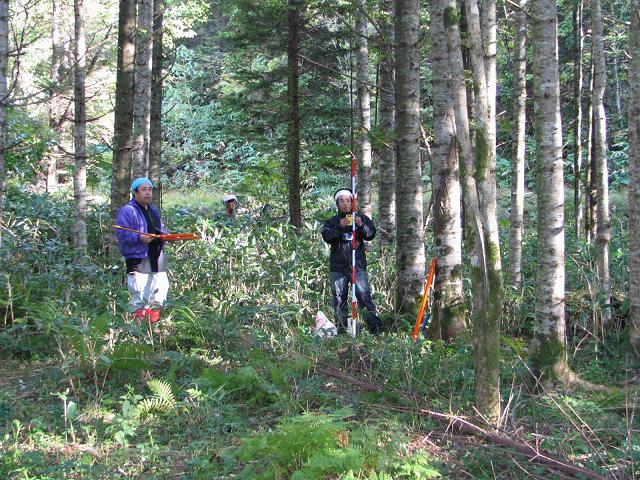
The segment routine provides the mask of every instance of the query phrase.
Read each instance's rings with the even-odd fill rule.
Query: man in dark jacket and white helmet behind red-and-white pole
[[[329,270],[331,292],[333,294],[333,310],[338,332],[344,332],[349,315],[348,300],[349,285],[351,284],[351,252],[352,252],[352,221],[356,224],[356,299],[358,306],[365,308],[364,315],[367,329],[373,333],[380,332],[381,321],[376,313],[376,306],[371,298],[369,278],[367,276],[367,257],[364,241],[371,241],[376,236],[376,227],[369,217],[356,212],[351,214],[351,190],[341,189],[334,195],[337,215],[324,222],[322,238],[331,245],[329,256]]]

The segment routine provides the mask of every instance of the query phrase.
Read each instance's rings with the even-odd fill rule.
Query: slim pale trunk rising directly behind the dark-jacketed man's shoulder
[[[364,0],[358,0],[356,12],[356,76],[358,78],[358,210],[371,218],[371,94],[369,92],[369,22]]]

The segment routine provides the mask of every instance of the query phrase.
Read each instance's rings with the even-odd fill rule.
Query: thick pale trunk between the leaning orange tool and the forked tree
[[[451,339],[465,329],[462,291],[462,225],[460,170],[456,152],[451,66],[444,29],[443,5],[431,9],[433,69],[433,181],[434,243],[438,259],[430,335]]]

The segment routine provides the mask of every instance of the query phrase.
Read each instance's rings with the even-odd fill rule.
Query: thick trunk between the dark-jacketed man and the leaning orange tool
[[[396,51],[396,311],[414,312],[424,283],[422,168],[420,165],[420,2],[398,0]]]

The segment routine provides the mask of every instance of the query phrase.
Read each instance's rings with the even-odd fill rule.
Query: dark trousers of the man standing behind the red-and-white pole
[[[341,272],[331,272],[331,292],[333,294],[333,312],[336,319],[338,331],[345,331],[347,317],[350,314],[351,295],[349,286],[351,285],[351,273],[345,275]],[[371,298],[369,288],[369,277],[366,270],[356,271],[356,300],[358,307],[366,308],[364,321],[371,333],[378,333],[382,322],[376,313],[376,306]]]

